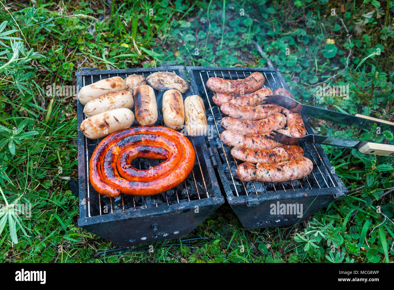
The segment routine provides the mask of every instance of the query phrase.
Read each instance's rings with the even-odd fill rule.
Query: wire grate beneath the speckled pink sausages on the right
[[[267,194],[269,192],[280,192],[280,191],[297,191],[303,189],[322,189],[322,188],[330,188],[337,187],[338,181],[335,181],[330,172],[331,164],[329,163],[327,157],[322,152],[321,147],[318,148],[316,144],[300,144],[300,146],[304,150],[305,157],[308,157],[314,165],[313,171],[309,176],[297,181],[288,181],[283,183],[263,183],[256,181],[248,181],[243,182],[238,180],[236,177],[236,168],[239,164],[239,161],[232,157],[230,154],[230,147],[223,144],[219,138],[219,134],[224,131],[223,127],[220,125],[220,120],[227,115],[224,115],[220,107],[215,105],[212,101],[212,97],[214,92],[209,90],[206,87],[206,81],[210,77],[221,77],[223,79],[243,79],[251,74],[253,71],[260,71],[266,81],[264,83],[264,87],[271,88],[272,91],[277,90],[277,88],[287,88],[286,84],[282,77],[279,77],[274,70],[267,69],[248,69],[248,68],[197,68],[197,67],[187,67],[188,73],[193,75],[193,79],[195,80],[195,85],[199,91],[199,94],[204,99],[204,103],[208,112],[208,120],[211,121],[208,123],[214,125],[216,129],[216,134],[214,137],[214,141],[218,146],[218,152],[221,157],[221,161],[223,164],[223,170],[225,171],[225,175],[229,180],[230,184],[233,185],[232,192],[234,196],[242,196],[242,195],[259,195],[259,194]],[[307,127],[307,131],[310,133],[312,128],[305,124]],[[319,150],[320,149],[320,150]],[[319,152],[320,151],[320,152]],[[327,159],[323,160],[323,155]],[[328,161],[328,162],[327,162]],[[337,178],[337,176],[336,176]]]

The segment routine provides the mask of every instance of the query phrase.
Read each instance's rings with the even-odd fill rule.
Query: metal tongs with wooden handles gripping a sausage
[[[305,122],[305,116],[309,116],[313,118],[319,118],[319,119],[341,123],[344,125],[348,124],[356,127],[361,127],[364,129],[366,128],[372,129],[372,126],[374,125],[374,123],[376,123],[377,126],[380,127],[381,132],[385,130],[391,131],[391,133],[394,132],[393,122],[388,122],[385,120],[380,120],[377,118],[372,118],[360,114],[352,116],[349,114],[343,114],[340,112],[304,105],[297,102],[295,99],[286,97],[285,95],[266,95],[266,99],[263,99],[262,101],[266,101],[266,103],[268,104],[279,105],[290,110],[293,113],[298,113],[301,115],[304,122]],[[309,143],[356,148],[361,153],[366,153],[366,154],[394,156],[394,145],[390,145],[390,144],[365,142],[360,140],[329,137],[329,136],[316,135],[316,134],[307,134],[303,137],[292,137],[283,134],[277,130],[273,130],[273,132],[271,132],[270,135],[271,137],[269,138],[282,144],[294,145],[297,144],[298,142],[309,142]]]

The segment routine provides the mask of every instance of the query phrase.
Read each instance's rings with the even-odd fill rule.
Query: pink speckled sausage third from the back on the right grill
[[[280,113],[282,109],[277,105],[240,106],[230,102],[220,106],[220,110],[229,117],[250,121],[265,119],[272,114]]]

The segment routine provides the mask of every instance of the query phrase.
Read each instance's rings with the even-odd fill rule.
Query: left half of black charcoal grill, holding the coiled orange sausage
[[[170,71],[186,79],[183,66],[171,63],[156,68],[98,71],[85,67],[76,72],[78,88],[100,79],[119,76],[123,79],[136,73],[147,77],[157,71]],[[156,125],[163,125],[162,96],[155,91],[159,118]],[[187,97],[191,91],[183,94]],[[155,243],[164,239],[188,235],[214,212],[224,198],[220,193],[216,173],[211,163],[206,137],[190,138],[196,152],[195,165],[186,180],[177,187],[154,196],[120,195],[109,198],[99,195],[89,182],[89,160],[102,139],[90,140],[80,131],[84,120],[83,106],[77,101],[78,115],[78,174],[79,209],[78,225],[122,247]],[[138,123],[134,123],[138,125]],[[132,166],[140,169],[157,165],[160,161],[136,159]],[[156,162],[156,163],[155,163]]]

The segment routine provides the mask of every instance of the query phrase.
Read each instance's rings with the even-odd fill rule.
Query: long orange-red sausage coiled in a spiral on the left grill
[[[145,157],[163,160],[139,170],[130,165]],[[140,126],[117,131],[102,140],[89,163],[89,179],[102,195],[155,195],[181,183],[193,169],[195,152],[181,133],[160,126]]]

